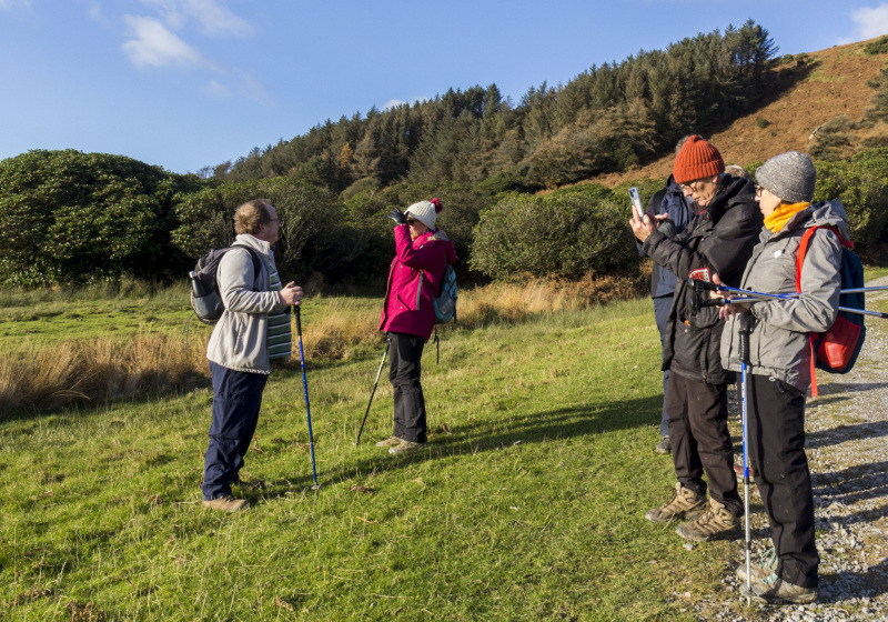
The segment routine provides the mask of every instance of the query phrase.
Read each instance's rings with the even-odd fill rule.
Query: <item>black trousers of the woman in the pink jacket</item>
[[[425,340],[415,334],[389,333],[389,381],[395,398],[394,435],[415,443],[426,442],[425,398],[420,384],[420,359]]]

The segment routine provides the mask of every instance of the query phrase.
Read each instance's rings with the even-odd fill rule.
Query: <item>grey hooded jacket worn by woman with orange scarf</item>
[[[746,265],[741,289],[763,293],[796,291],[796,258],[805,230],[834,225],[848,239],[848,219],[838,200],[815,203],[796,213],[777,233],[761,230],[759,243]],[[750,373],[770,375],[807,391],[810,384],[808,332],[823,332],[838,314],[841,245],[828,230],[818,230],[801,267],[801,294],[797,299],[769,300],[751,305],[755,318],[749,334]],[[739,321],[728,320],[722,334],[722,364],[740,371]]]

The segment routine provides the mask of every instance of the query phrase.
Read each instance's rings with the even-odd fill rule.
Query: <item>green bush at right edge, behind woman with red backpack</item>
[[[888,235],[888,148],[862,151],[849,160],[817,162],[814,199],[841,201],[855,244],[884,240]]]

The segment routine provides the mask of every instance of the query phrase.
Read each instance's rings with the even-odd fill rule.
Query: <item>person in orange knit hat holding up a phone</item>
[[[734,373],[723,369],[719,352],[724,321],[712,307],[693,312],[687,282],[693,270],[708,269],[725,283],[738,284],[761,230],[754,184],[724,171],[718,150],[692,136],[675,159],[673,175],[702,211],[672,240],[648,217],[629,221],[645,253],[678,277],[663,350],[663,368],[670,370],[666,410],[678,481],[672,501],[646,518],[684,519],[678,534],[695,542],[739,536],[744,513],[727,425],[727,384]]]

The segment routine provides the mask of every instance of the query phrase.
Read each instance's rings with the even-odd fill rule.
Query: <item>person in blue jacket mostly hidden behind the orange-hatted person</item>
[[[676,154],[685,144],[687,138],[678,141],[676,146]],[[646,213],[652,222],[662,217],[664,221],[668,220],[660,229],[667,237],[674,238],[685,230],[688,222],[694,218],[694,208],[696,204],[685,197],[682,188],[676,183],[673,175],[666,180],[666,184],[650,197],[647,202]],[[642,245],[638,244],[638,252],[645,254]],[[673,305],[673,294],[675,293],[676,277],[667,268],[659,264],[654,264],[650,271],[650,299],[654,301],[654,321],[657,323],[657,331],[659,332],[659,343],[664,348],[666,345],[666,321],[669,317],[669,309]],[[657,453],[669,453],[672,447],[669,444],[669,415],[666,412],[666,388],[669,384],[669,370],[663,371],[663,413],[659,422],[660,441],[654,448]]]

